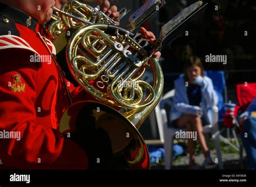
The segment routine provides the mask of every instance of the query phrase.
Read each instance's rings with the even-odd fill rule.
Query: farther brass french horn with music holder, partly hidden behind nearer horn
[[[164,0],[147,0],[130,18],[129,23],[125,26],[127,30],[133,31],[147,18],[153,15],[165,4]],[[60,33],[71,27],[91,25],[91,24],[112,24],[120,21],[129,11],[126,8],[121,9],[120,16],[117,20],[113,20],[104,12],[99,10],[99,6],[92,8],[90,5],[80,3],[77,0],[70,0],[57,9],[52,8],[55,14],[52,15],[52,21],[48,26],[52,40],[55,40]],[[67,13],[69,16],[67,16]]]

